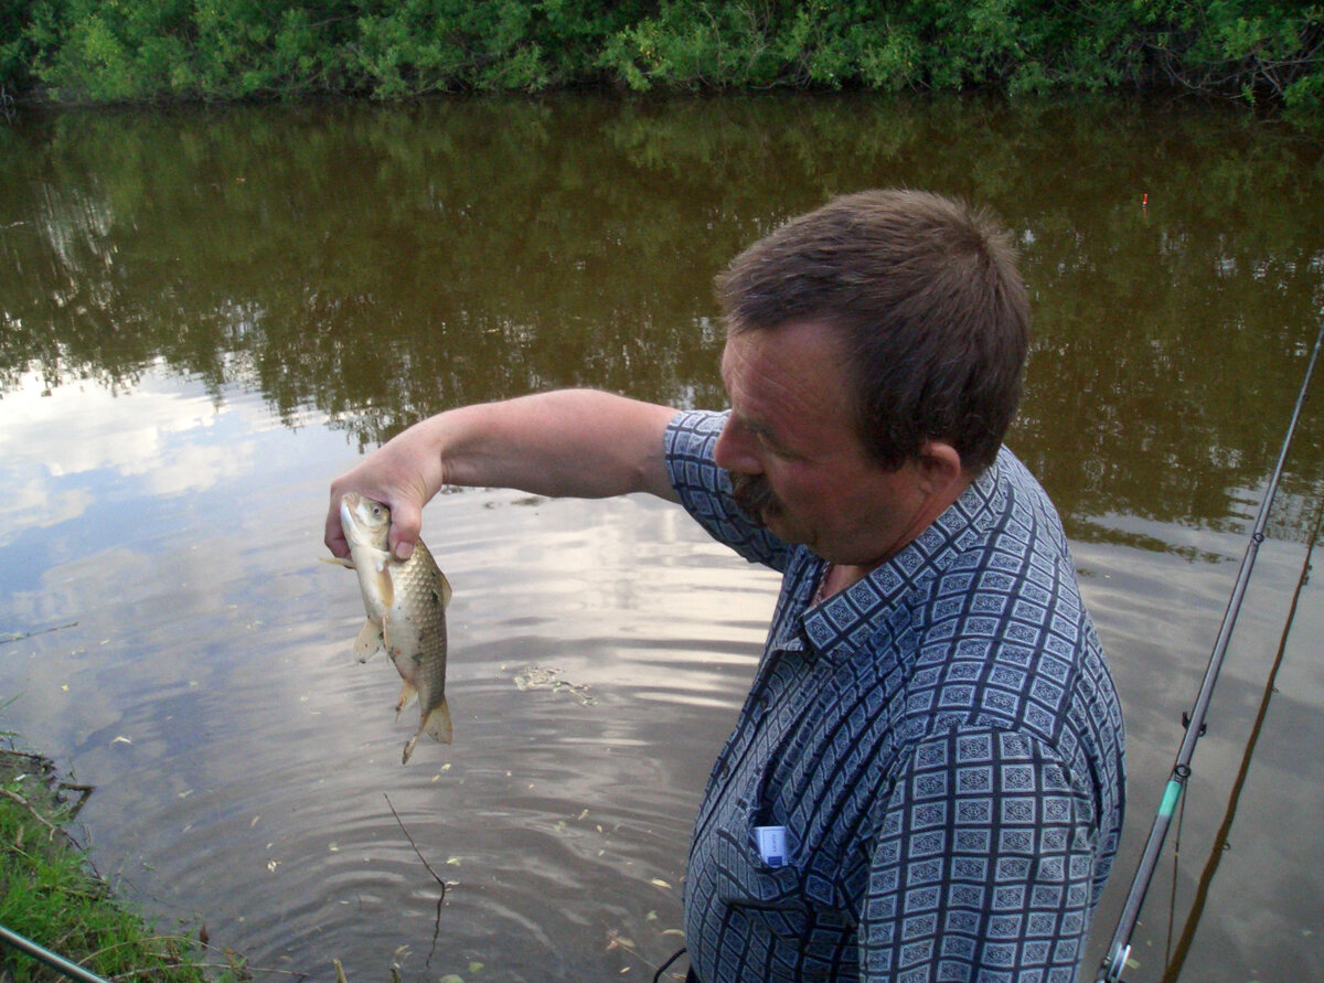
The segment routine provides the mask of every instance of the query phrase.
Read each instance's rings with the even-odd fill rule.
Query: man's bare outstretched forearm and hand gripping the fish
[[[400,558],[418,541],[422,506],[445,485],[580,498],[650,492],[679,501],[663,456],[663,435],[674,413],[669,407],[592,389],[438,413],[331,482],[327,548],[336,556],[350,555],[339,513],[347,492],[391,509],[391,548]]]

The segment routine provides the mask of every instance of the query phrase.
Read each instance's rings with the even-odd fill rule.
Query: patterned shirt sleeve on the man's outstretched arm
[[[681,503],[719,543],[751,563],[785,570],[789,547],[735,503],[731,477],[712,460],[712,448],[730,413],[690,409],[677,413],[666,432],[666,464]]]

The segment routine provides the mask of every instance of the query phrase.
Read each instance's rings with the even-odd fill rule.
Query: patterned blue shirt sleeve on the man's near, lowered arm
[[[1071,983],[1084,955],[1092,796],[1043,742],[953,729],[915,747],[880,803],[861,978]]]

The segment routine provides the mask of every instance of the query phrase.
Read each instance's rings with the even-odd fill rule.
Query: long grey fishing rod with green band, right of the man
[[[1283,440],[1283,449],[1278,454],[1278,464],[1274,466],[1274,476],[1268,480],[1268,490],[1264,501],[1259,505],[1259,515],[1255,518],[1255,527],[1251,531],[1250,543],[1246,546],[1246,555],[1242,556],[1241,570],[1237,572],[1237,583],[1233,587],[1231,599],[1223,612],[1223,623],[1218,628],[1218,637],[1214,640],[1214,650],[1209,657],[1209,666],[1205,669],[1205,678],[1200,684],[1200,693],[1196,696],[1196,706],[1190,715],[1184,714],[1186,735],[1182,738],[1177,751],[1177,760],[1172,766],[1172,775],[1164,787],[1162,800],[1158,803],[1158,812],[1153,825],[1149,828],[1149,839],[1145,841],[1144,853],[1140,856],[1140,865],[1136,869],[1127,901],[1121,907],[1121,917],[1117,919],[1117,929],[1112,933],[1108,951],[1103,957],[1099,975],[1095,983],[1120,983],[1121,970],[1125,968],[1127,957],[1131,955],[1131,933],[1140,919],[1140,909],[1145,904],[1145,893],[1153,880],[1155,869],[1158,865],[1158,853],[1162,851],[1164,839],[1172,825],[1173,812],[1181,802],[1181,794],[1190,778],[1190,759],[1196,754],[1196,743],[1205,729],[1205,714],[1209,711],[1209,702],[1214,696],[1214,684],[1218,682],[1218,672],[1223,665],[1223,656],[1227,653],[1227,643],[1231,639],[1233,625],[1241,611],[1242,599],[1246,596],[1246,586],[1250,582],[1251,568],[1255,566],[1255,556],[1259,554],[1259,544],[1264,542],[1264,526],[1268,525],[1268,510],[1274,505],[1274,495],[1278,493],[1278,482],[1283,477],[1283,465],[1287,462],[1287,450],[1292,445],[1292,435],[1296,432],[1296,421],[1301,416],[1301,405],[1305,403],[1305,393],[1311,388],[1311,375],[1315,372],[1315,363],[1319,359],[1320,344],[1324,343],[1324,321],[1320,322],[1319,335],[1315,338],[1315,348],[1311,351],[1309,363],[1305,366],[1305,379],[1301,380],[1301,391],[1296,396],[1296,407],[1292,409],[1292,419],[1287,424],[1287,437]]]

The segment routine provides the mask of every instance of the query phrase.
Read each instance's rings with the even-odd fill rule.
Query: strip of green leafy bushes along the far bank
[[[1177,86],[1309,111],[1300,0],[0,0],[0,85],[69,101]]]

